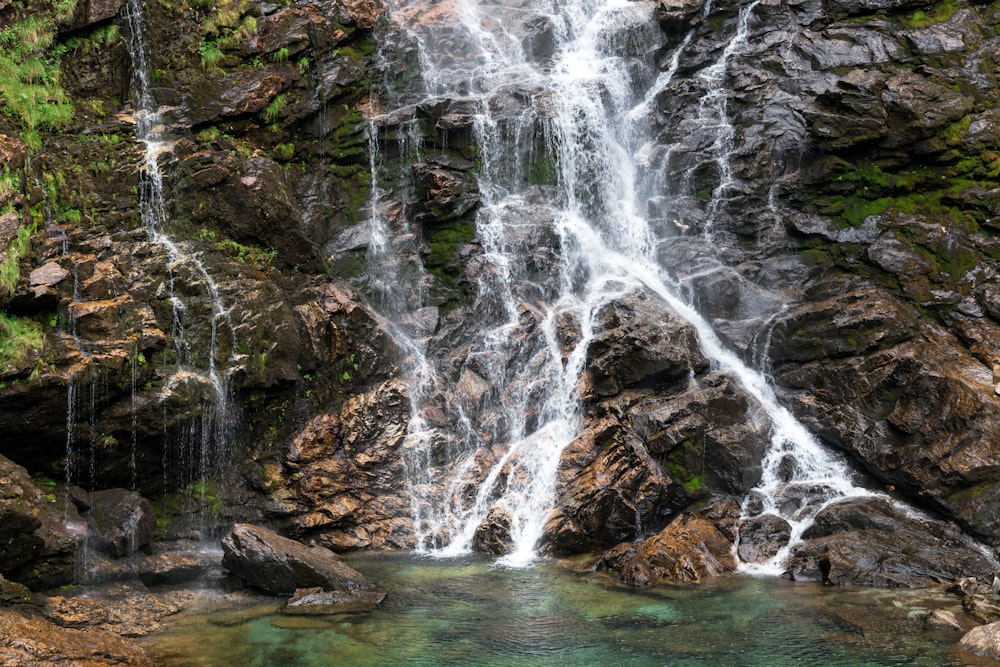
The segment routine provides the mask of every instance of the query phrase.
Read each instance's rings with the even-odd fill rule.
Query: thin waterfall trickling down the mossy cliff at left
[[[128,0],[123,17],[126,23],[126,46],[132,63],[132,106],[136,137],[145,147],[140,167],[139,210],[150,242],[160,246],[167,257],[165,295],[172,306],[171,340],[175,362],[168,373],[163,400],[181,387],[193,388],[205,394],[200,417],[193,418],[177,442],[164,443],[164,480],[168,479],[166,466],[173,466],[178,486],[187,485],[192,496],[204,501],[206,483],[219,479],[231,461],[227,452],[234,416],[230,407],[226,364],[233,361],[237,349],[235,332],[229,321],[219,287],[199,256],[187,250],[185,244],[174,240],[165,229],[168,222],[166,192],[161,162],[173,151],[174,142],[167,134],[164,113],[169,109],[157,106],[150,87],[149,42],[146,34],[145,7],[142,0]],[[184,296],[195,286],[203,291],[207,301],[207,332],[195,319],[195,301]],[[224,358],[220,345],[222,331],[228,330],[229,353]],[[194,344],[194,336],[205,336],[207,349]],[[168,456],[167,450],[172,452]],[[133,479],[135,471],[132,471]],[[203,528],[205,526],[202,526]]]

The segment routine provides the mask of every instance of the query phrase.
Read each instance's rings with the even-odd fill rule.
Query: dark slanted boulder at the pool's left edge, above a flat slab
[[[222,540],[222,565],[247,583],[275,595],[299,588],[371,591],[364,576],[324,547],[306,546],[272,530],[236,524]]]

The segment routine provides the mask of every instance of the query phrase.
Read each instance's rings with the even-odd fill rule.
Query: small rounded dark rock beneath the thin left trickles
[[[135,491],[106,489],[89,494],[87,526],[96,548],[115,558],[148,549],[156,532],[152,505]]]

